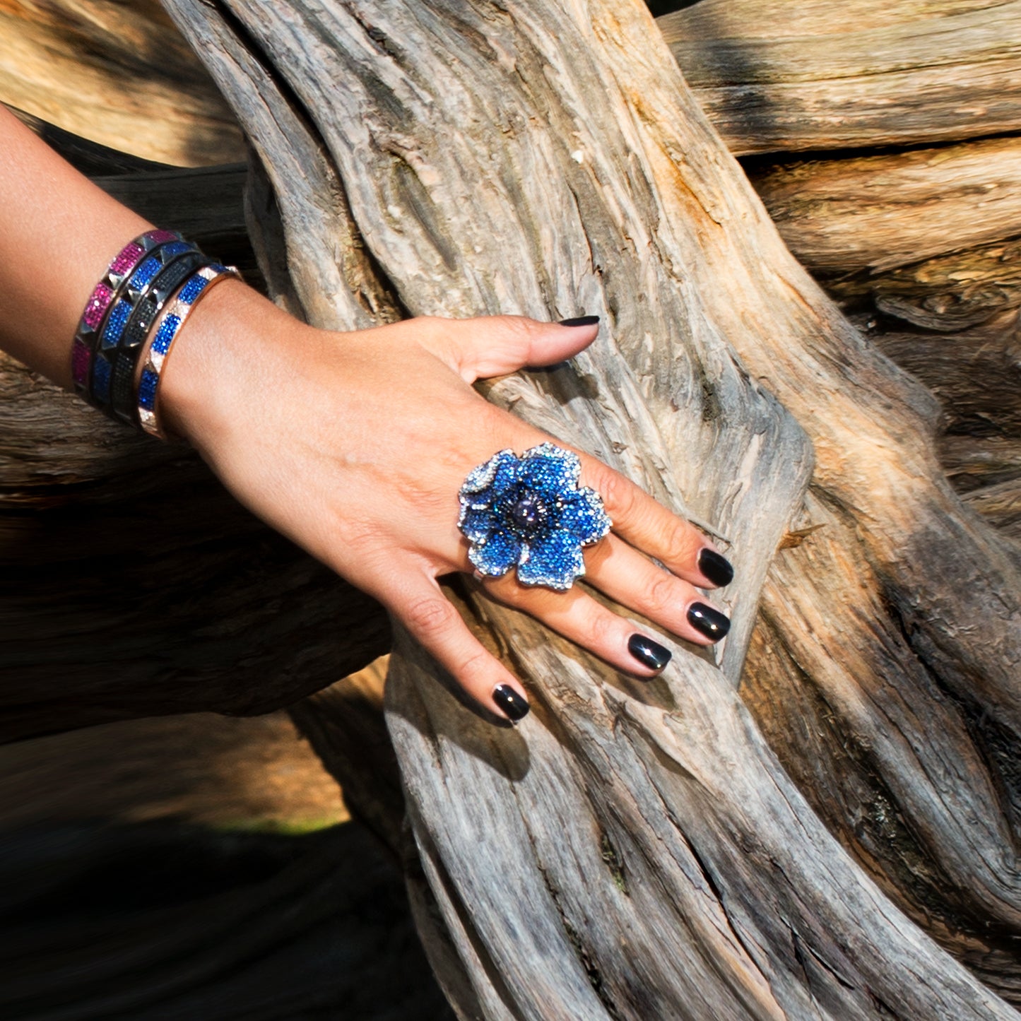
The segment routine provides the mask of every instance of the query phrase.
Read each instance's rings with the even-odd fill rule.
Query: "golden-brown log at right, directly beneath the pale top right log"
[[[950,333],[1021,304],[1021,139],[745,166],[841,300]]]

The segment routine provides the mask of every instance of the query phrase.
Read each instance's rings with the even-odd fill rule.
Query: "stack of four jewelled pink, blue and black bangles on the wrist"
[[[224,275],[236,276],[237,271],[207,258],[173,231],[147,231],[131,241],[96,285],[76,331],[71,344],[76,391],[111,418],[162,436],[155,419],[162,358],[198,296]],[[160,312],[175,295],[172,310],[152,336]],[[157,349],[155,368],[153,349]],[[143,351],[145,357],[140,358]],[[145,366],[141,373],[140,361]],[[143,379],[146,403],[139,390]]]

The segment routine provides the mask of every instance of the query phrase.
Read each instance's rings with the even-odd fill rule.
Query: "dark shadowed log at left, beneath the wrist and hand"
[[[264,713],[387,648],[377,603],[201,460],[0,360],[0,739]]]

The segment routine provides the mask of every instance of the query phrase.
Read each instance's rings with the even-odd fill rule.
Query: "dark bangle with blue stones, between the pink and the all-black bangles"
[[[89,403],[107,414],[112,414],[113,371],[120,348],[136,349],[145,340],[145,333],[138,335],[133,329],[140,311],[150,312],[148,298],[165,273],[179,260],[191,260],[191,268],[203,259],[198,249],[187,241],[175,237],[154,246],[120,282],[105,318],[95,335],[91,371],[86,380],[83,396]],[[180,283],[180,281],[179,281]],[[164,297],[165,300],[165,297]],[[151,326],[154,314],[149,314]],[[131,375],[129,375],[129,379]]]

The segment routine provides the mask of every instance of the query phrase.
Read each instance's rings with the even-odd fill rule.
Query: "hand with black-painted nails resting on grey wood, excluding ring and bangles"
[[[596,332],[493,317],[332,333],[229,282],[175,343],[159,411],[243,503],[379,599],[486,709],[520,719],[528,712],[520,682],[436,579],[474,572],[457,528],[466,476],[497,450],[521,454],[550,437],[471,384],[563,361]],[[581,463],[581,485],[601,494],[614,523],[585,552],[586,580],[682,638],[722,638],[726,618],[694,586],[726,584],[727,562],[624,476],[584,453]],[[514,570],[482,585],[621,670],[652,677],[670,658],[578,586],[528,587]]]

